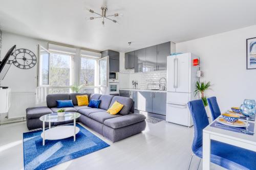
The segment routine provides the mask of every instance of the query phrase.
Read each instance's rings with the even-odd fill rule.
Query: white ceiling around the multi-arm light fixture
[[[91,8],[119,25],[87,21]],[[181,42],[256,24],[254,0],[0,0],[0,28],[34,38],[98,51],[137,50],[162,42]],[[131,47],[127,42],[132,41]]]

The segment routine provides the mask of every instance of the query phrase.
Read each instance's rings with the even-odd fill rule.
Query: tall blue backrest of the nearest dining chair
[[[192,151],[200,148],[203,144],[203,129],[209,125],[209,120],[204,108],[203,101],[195,100],[187,103],[190,113],[194,121],[194,140],[192,144]]]

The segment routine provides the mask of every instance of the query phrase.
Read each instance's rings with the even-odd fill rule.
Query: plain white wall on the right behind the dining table
[[[207,96],[217,96],[221,111],[256,99],[256,69],[246,70],[246,39],[256,37],[256,25],[176,44],[176,51],[200,57],[204,79],[212,84]]]

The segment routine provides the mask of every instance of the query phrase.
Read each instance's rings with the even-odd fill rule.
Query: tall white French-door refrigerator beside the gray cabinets
[[[187,103],[195,100],[198,66],[193,66],[191,53],[167,56],[166,121],[193,126]]]

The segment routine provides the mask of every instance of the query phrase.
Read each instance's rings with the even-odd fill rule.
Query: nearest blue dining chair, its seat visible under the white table
[[[200,158],[198,168],[203,157],[203,129],[209,125],[207,114],[202,100],[188,102],[188,108],[194,121],[193,154],[190,157],[188,169],[193,156]],[[256,152],[235,147],[230,144],[211,140],[212,163],[227,169],[256,169]]]

